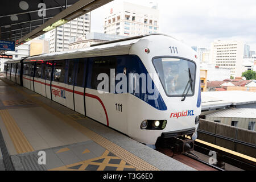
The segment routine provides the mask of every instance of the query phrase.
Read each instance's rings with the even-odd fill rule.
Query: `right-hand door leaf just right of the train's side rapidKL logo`
[[[76,61],[75,85],[74,85],[74,102],[75,111],[85,115],[85,75],[86,75],[86,59]]]

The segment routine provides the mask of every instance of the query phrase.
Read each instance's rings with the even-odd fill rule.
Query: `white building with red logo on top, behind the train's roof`
[[[157,6],[150,8],[128,2],[118,3],[105,17],[104,34],[137,36],[159,31]]]

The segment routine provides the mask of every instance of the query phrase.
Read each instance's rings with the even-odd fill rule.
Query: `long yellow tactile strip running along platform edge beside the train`
[[[6,82],[5,80],[2,80],[2,81]],[[52,107],[49,107],[48,105],[44,104],[43,102],[36,100],[36,98],[34,98],[30,94],[24,92],[22,89],[19,89],[16,86],[12,86],[11,84],[9,84],[9,82],[6,82],[6,83],[9,86],[11,86],[12,88],[14,88],[15,90],[17,90],[18,92],[22,93],[23,96],[26,96],[31,101],[44,107],[44,109],[46,109],[50,113],[56,115],[57,117],[62,119],[64,122],[68,123],[68,125],[71,125],[73,128],[80,131],[82,134],[86,135],[87,137],[92,139],[97,144],[100,144],[100,146],[106,148],[106,150],[112,152],[114,155],[125,160],[127,163],[131,164],[131,166],[135,167],[136,169],[138,169],[140,171],[159,171],[158,168],[152,166],[151,164],[147,163],[146,161],[139,158],[138,156],[131,154],[129,151],[126,151],[124,148],[119,147],[117,144],[110,142],[108,139],[101,137],[101,135],[98,135],[98,134],[94,133],[93,131],[87,129],[86,127],[80,125],[74,119],[67,117],[67,115],[60,113],[59,111],[53,109]]]

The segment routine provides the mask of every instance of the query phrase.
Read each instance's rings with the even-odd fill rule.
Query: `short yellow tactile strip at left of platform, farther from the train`
[[[13,141],[14,147],[18,154],[23,154],[25,152],[32,152],[34,148],[28,142],[27,138],[24,136],[19,126],[14,121],[8,110],[0,110],[0,115],[5,123],[5,127]]]

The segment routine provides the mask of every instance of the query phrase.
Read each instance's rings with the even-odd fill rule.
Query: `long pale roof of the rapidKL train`
[[[83,57],[95,57],[95,56],[126,55],[126,54],[129,54],[129,49],[131,45],[133,45],[134,43],[137,43],[139,40],[145,37],[150,37],[155,35],[167,36],[169,38],[172,38],[171,36],[166,34],[146,34],[146,35],[134,36],[131,38],[93,44],[90,47],[82,48],[82,49],[29,56],[20,60],[6,61],[6,63],[20,63],[20,61],[22,60],[23,62],[31,62],[31,61],[50,61],[50,60],[61,60],[61,59],[79,59]],[[175,39],[175,38],[172,38],[172,39]]]

